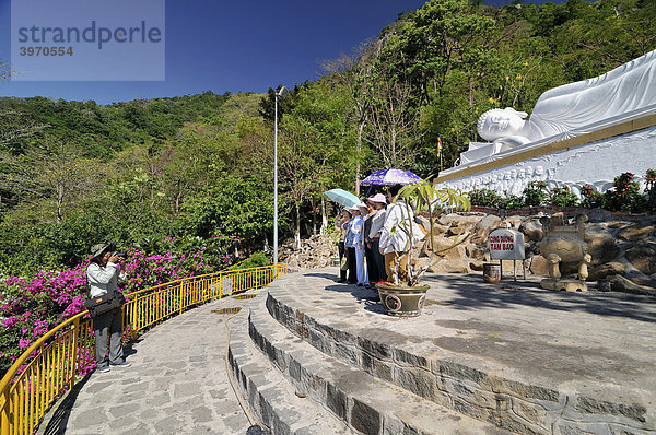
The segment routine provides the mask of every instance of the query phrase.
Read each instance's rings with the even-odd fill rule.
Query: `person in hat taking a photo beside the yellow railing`
[[[97,244],[91,248],[92,259],[86,268],[89,294],[93,297],[103,296],[109,292],[118,292],[118,283],[125,281],[125,258],[118,257],[112,246]],[[93,329],[96,338],[96,369],[109,372],[109,365],[129,367],[130,363],[124,357],[120,343],[122,337],[121,309],[99,314],[93,318]],[[109,337],[107,337],[109,336]],[[107,357],[107,339],[109,339],[109,357]]]

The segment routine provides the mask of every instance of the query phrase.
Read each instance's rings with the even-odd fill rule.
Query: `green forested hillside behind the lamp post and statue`
[[[320,192],[382,167],[422,176],[477,140],[490,108],[530,113],[557,85],[656,49],[653,0],[505,8],[433,0],[281,104],[283,231],[306,235]],[[0,98],[0,268],[71,266],[98,239],[156,250],[171,235],[271,242],[273,90],[94,102]],[[313,225],[314,223],[314,225]]]

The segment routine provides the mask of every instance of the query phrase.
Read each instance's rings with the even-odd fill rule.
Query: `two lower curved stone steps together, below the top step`
[[[266,293],[235,316],[230,364],[272,434],[508,434],[324,353],[267,309]],[[418,381],[421,381],[417,379]]]

